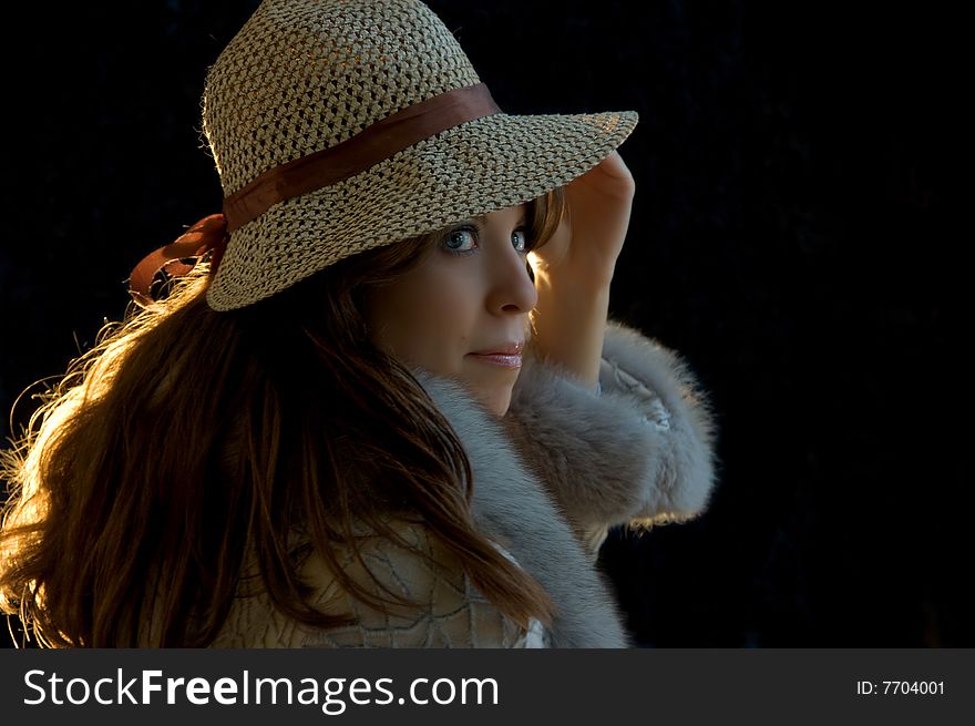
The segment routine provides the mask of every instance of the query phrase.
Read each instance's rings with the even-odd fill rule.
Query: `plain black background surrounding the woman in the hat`
[[[722,480],[696,522],[604,548],[638,643],[975,645],[959,19],[916,0],[431,6],[506,111],[640,113],[612,313],[711,391]],[[121,316],[143,254],[219,209],[203,79],[256,2],[18,7],[4,412]]]

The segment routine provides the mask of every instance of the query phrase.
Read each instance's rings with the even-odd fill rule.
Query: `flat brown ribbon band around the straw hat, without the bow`
[[[424,139],[500,111],[483,83],[408,106],[335,146],[268,170],[226,197],[227,229],[244,226],[278,202],[337,184]]]

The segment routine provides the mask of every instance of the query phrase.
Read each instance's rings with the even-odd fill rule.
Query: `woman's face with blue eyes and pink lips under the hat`
[[[449,227],[434,248],[370,298],[373,342],[410,367],[461,382],[507,411],[535,286],[525,267],[525,206]]]

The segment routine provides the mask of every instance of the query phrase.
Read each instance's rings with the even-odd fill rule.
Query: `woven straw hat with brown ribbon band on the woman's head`
[[[229,228],[207,300],[239,308],[349,255],[531,201],[636,121],[501,113],[417,0],[265,0],[206,83]]]

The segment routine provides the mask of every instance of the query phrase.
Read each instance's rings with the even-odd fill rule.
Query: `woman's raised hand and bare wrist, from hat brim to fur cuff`
[[[538,290],[532,314],[535,351],[592,388],[599,380],[609,283],[635,188],[613,152],[565,187],[565,217],[552,239],[532,253]]]

